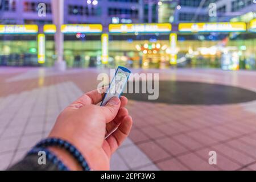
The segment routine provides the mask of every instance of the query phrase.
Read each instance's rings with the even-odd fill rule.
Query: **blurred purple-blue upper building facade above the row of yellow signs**
[[[38,16],[38,4],[46,16]],[[216,7],[212,7],[212,4]],[[214,6],[214,5],[213,5]],[[65,23],[225,22],[254,12],[254,0],[65,0]],[[216,8],[216,16],[209,11]],[[1,0],[2,24],[52,23],[51,0]],[[18,16],[17,16],[18,15]]]

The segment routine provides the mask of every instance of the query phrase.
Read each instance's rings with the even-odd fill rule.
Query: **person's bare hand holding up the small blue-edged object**
[[[111,155],[126,139],[133,123],[125,108],[126,97],[113,97],[105,106],[98,106],[96,104],[104,96],[101,93],[102,89],[90,91],[69,105],[60,113],[49,134],[49,137],[72,143],[84,155],[93,170],[109,169]],[[105,139],[105,134],[110,135]],[[71,159],[67,159],[64,151],[57,148],[51,150],[60,156],[64,163],[69,163],[71,169],[78,169],[73,167]]]

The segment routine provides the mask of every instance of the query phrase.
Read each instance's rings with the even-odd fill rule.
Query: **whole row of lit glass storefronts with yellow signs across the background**
[[[255,69],[256,20],[243,22],[63,24],[68,67]],[[40,29],[40,31],[39,31]],[[56,26],[0,25],[1,65],[52,67]]]

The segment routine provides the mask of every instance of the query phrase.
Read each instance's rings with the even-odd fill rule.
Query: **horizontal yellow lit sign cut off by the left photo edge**
[[[36,24],[0,24],[0,34],[36,34]]]

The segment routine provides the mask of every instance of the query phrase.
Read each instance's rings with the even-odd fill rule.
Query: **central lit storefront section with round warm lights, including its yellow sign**
[[[170,67],[171,29],[170,23],[110,24],[110,64],[134,68]]]

